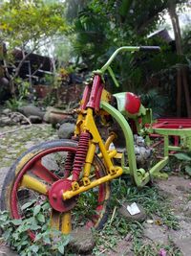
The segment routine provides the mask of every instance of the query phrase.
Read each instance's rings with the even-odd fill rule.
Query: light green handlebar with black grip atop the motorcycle
[[[112,77],[113,81],[115,82],[116,86],[118,87],[119,84],[117,82],[117,79],[115,77],[115,74],[112,70],[112,68],[110,67],[110,64],[112,63],[112,61],[117,57],[117,54],[119,52],[159,52],[160,48],[159,46],[122,46],[119,47],[114,54],[108,59],[108,61],[101,67],[100,70],[96,70],[94,73],[95,74],[101,74],[103,75],[105,73],[106,70],[108,70],[110,76]]]

